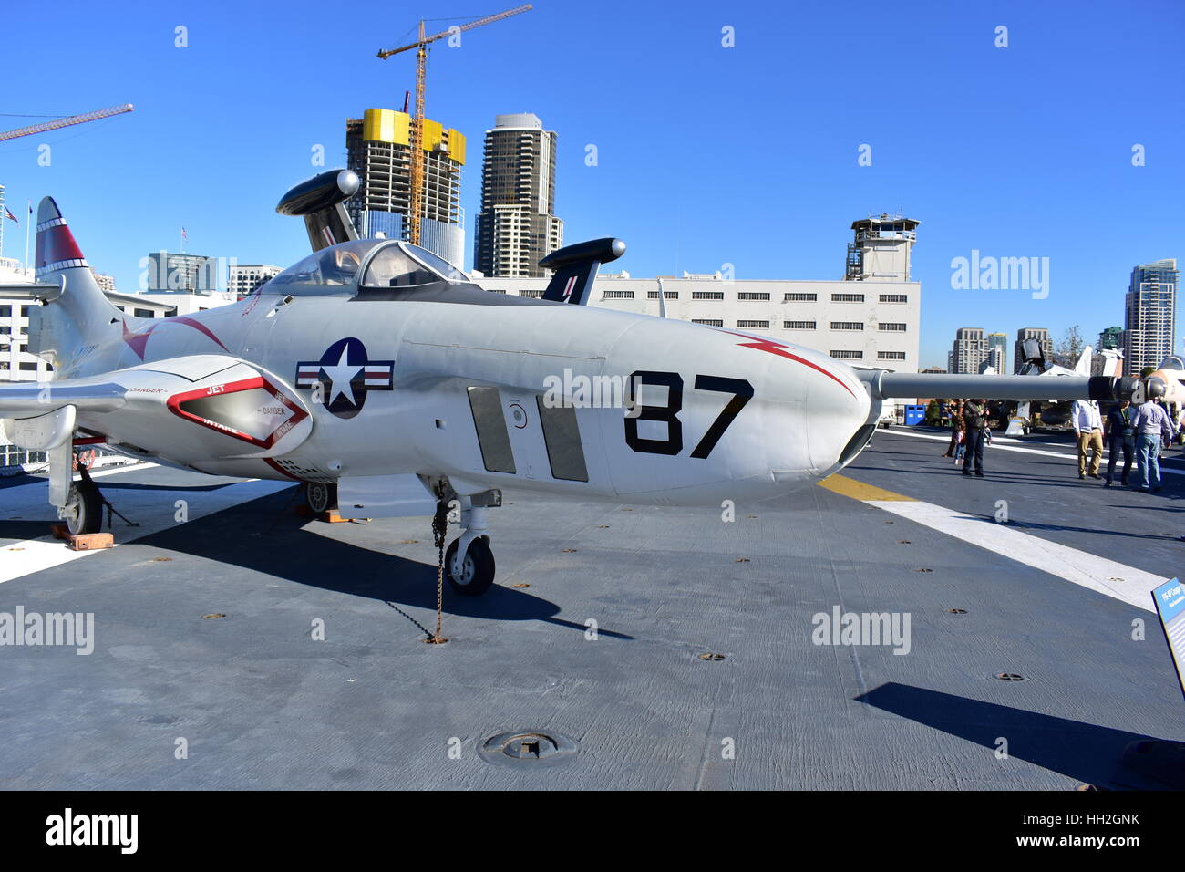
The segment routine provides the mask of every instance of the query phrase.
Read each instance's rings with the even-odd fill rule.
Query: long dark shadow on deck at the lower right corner
[[[1008,741],[1008,757],[1085,784],[1116,785],[1116,770],[1128,743],[1155,738],[897,682],[869,690],[856,701],[957,736],[992,752],[1004,737]],[[1164,789],[1141,783],[1144,779],[1126,771],[1122,775],[1129,787]]]

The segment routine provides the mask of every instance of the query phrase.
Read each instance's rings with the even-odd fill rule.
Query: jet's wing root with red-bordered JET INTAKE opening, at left
[[[60,446],[77,426],[140,454],[196,464],[287,453],[308,438],[313,419],[274,374],[229,355],[186,355],[0,387],[0,424],[28,450]]]

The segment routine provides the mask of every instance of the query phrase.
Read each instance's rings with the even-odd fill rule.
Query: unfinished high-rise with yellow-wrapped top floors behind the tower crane
[[[424,184],[421,197],[419,244],[465,266],[465,212],[461,168],[465,135],[424,119]],[[367,109],[346,121],[347,164],[358,173],[358,193],[346,209],[358,234],[405,240],[411,210],[411,117],[393,109]]]

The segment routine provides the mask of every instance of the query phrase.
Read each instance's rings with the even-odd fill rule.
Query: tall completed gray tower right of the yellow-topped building
[[[556,133],[530,113],[498,115],[486,131],[473,267],[491,276],[544,276],[539,261],[564,244],[556,211]]]

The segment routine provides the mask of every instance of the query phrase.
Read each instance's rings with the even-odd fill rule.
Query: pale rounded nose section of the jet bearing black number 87
[[[838,469],[869,418],[850,367],[752,333],[647,319],[622,333],[608,368],[639,382],[638,414],[614,454],[620,495],[685,504],[780,496]],[[620,419],[606,426],[607,440],[620,440]]]

